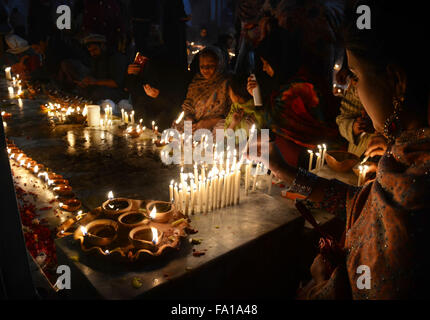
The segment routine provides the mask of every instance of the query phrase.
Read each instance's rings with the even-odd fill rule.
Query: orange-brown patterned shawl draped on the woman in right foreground
[[[350,288],[353,299],[429,298],[430,128],[404,132],[381,158],[376,180],[359,192],[346,188],[346,264],[307,297],[347,298]],[[358,288],[362,265],[370,289]]]

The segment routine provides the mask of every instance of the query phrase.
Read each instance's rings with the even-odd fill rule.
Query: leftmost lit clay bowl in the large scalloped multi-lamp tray
[[[118,223],[110,219],[97,219],[81,226],[84,241],[93,246],[107,246],[111,244],[118,235]]]

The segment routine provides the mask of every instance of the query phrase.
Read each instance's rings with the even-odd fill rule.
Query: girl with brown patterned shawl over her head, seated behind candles
[[[215,47],[206,47],[198,59],[200,72],[191,81],[182,104],[184,120],[193,122],[193,132],[197,129],[212,131],[225,119],[231,105],[225,63],[220,50]],[[177,129],[183,130],[183,122]]]

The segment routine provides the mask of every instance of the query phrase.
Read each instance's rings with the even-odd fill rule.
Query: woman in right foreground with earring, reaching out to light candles
[[[276,176],[345,221],[338,250],[321,248],[310,269],[313,280],[301,290],[301,298],[430,296],[430,80],[422,77],[430,64],[416,32],[428,27],[428,19],[421,7],[383,0],[369,6],[372,28],[357,28],[353,8],[345,45],[358,96],[375,130],[390,141],[376,179],[363,187],[323,179],[286,164],[273,143],[269,148],[267,166]]]

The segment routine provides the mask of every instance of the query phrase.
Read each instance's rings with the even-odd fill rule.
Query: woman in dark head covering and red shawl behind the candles
[[[270,101],[265,105],[267,124],[284,160],[290,165],[305,167],[307,149],[314,149],[321,143],[332,148],[339,144],[336,123],[328,116],[332,114],[333,104],[328,103],[328,95],[332,93],[322,93],[312,83],[306,65],[290,65],[284,60],[280,36],[273,32],[256,49],[263,71],[274,79]],[[257,82],[248,78],[250,94],[256,86]]]

